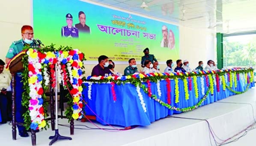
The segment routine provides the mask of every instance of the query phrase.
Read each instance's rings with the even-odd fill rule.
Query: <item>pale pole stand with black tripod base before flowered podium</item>
[[[58,86],[57,86],[57,64],[55,64],[55,135],[50,136],[49,139],[51,142],[49,143],[49,146],[51,146],[53,143],[55,143],[57,140],[72,140],[71,137],[65,137],[61,136],[59,134],[59,129],[58,129]]]

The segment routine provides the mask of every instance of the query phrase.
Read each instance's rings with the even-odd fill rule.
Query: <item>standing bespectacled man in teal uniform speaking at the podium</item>
[[[25,46],[37,46],[36,41],[33,41],[34,32],[32,26],[24,25],[21,28],[21,37],[22,39],[19,41],[14,41],[12,45],[10,46],[8,53],[6,55],[6,64],[9,63],[9,61],[18,53],[20,53]],[[24,123],[24,117],[22,117],[22,114],[24,114],[27,109],[21,105],[21,99],[22,99],[22,93],[24,92],[23,89],[23,82],[21,82],[22,76],[21,73],[16,73],[15,76],[16,79],[16,121],[18,123]],[[19,135],[21,137],[28,137],[27,130],[24,126],[19,126],[18,131]]]

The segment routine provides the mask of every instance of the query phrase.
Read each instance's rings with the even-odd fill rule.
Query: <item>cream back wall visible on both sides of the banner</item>
[[[12,42],[21,39],[21,26],[32,25],[32,0],[0,0],[0,14],[0,59],[4,60]],[[215,58],[215,32],[184,26],[179,29],[180,57],[182,60],[188,59],[191,68],[195,68],[200,60],[206,64],[208,59]],[[86,65],[86,76],[91,73],[93,66]],[[126,66],[128,65],[116,64],[116,70],[123,73]],[[165,67],[166,64],[161,64],[161,71]]]

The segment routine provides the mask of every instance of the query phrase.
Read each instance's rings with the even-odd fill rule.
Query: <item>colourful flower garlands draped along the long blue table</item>
[[[191,111],[195,108],[198,108],[202,102],[205,101],[205,99],[208,96],[208,93],[211,92],[211,94],[213,94],[214,92],[214,85],[219,86],[220,84],[223,85],[223,90],[225,90],[226,88],[228,88],[226,86],[226,79],[225,79],[225,75],[229,72],[236,72],[236,73],[248,73],[250,71],[252,71],[252,68],[249,69],[230,69],[230,70],[216,70],[216,71],[199,71],[199,72],[192,72],[192,73],[149,73],[149,74],[134,74],[132,76],[108,76],[108,77],[104,77],[104,76],[88,76],[87,77],[87,81],[89,82],[96,82],[96,83],[107,83],[107,82],[111,82],[113,84],[116,83],[117,85],[120,84],[125,84],[125,83],[131,83],[133,85],[135,85],[137,93],[138,93],[138,97],[140,99],[140,103],[142,105],[143,110],[146,112],[146,104],[143,100],[143,96],[140,92],[140,89],[143,89],[143,91],[145,93],[147,93],[149,95],[149,97],[151,97],[152,99],[154,99],[156,102],[159,102],[161,105],[171,109],[171,110],[176,110],[176,111]],[[205,80],[203,78],[203,76],[205,76]],[[194,83],[194,90],[195,90],[195,95],[198,98],[198,85],[197,85],[197,77],[200,77],[200,81],[201,81],[201,91],[202,91],[202,95],[203,98],[200,99],[200,101],[192,106],[192,107],[188,107],[188,108],[176,108],[170,105],[170,99],[169,99],[169,93],[171,91],[170,89],[170,80],[174,80],[175,82],[175,103],[179,103],[179,79],[181,79],[184,83],[185,86],[185,93],[189,90],[189,86],[190,84],[192,84],[192,79],[193,79],[193,83]],[[227,77],[227,76],[226,76]],[[188,82],[188,80],[189,82]],[[191,79],[191,83],[190,83],[190,79]],[[159,88],[158,90],[158,96],[159,96],[159,92],[161,92],[160,90],[160,81],[161,80],[165,80],[167,82],[167,103],[163,102],[160,98],[158,98],[156,95],[151,93],[151,84],[150,82],[155,82],[157,83],[157,88]],[[143,85],[142,83],[146,82],[147,88],[145,85]],[[205,88],[204,88],[204,82],[206,82],[206,84],[208,85],[208,89],[205,93]],[[159,84],[159,85],[158,85]],[[192,85],[191,85],[192,86]],[[191,87],[192,88],[192,87]],[[228,88],[230,89],[230,88]],[[220,89],[217,89],[220,90]],[[160,94],[161,95],[161,94]],[[188,96],[185,96],[185,99],[188,99],[189,94],[187,94]],[[159,96],[160,97],[160,96]]]

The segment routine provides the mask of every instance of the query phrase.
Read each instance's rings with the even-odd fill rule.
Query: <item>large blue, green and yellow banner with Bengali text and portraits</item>
[[[158,61],[179,59],[178,26],[79,0],[33,0],[33,27],[44,44],[78,48],[88,61],[139,62],[146,47]]]

